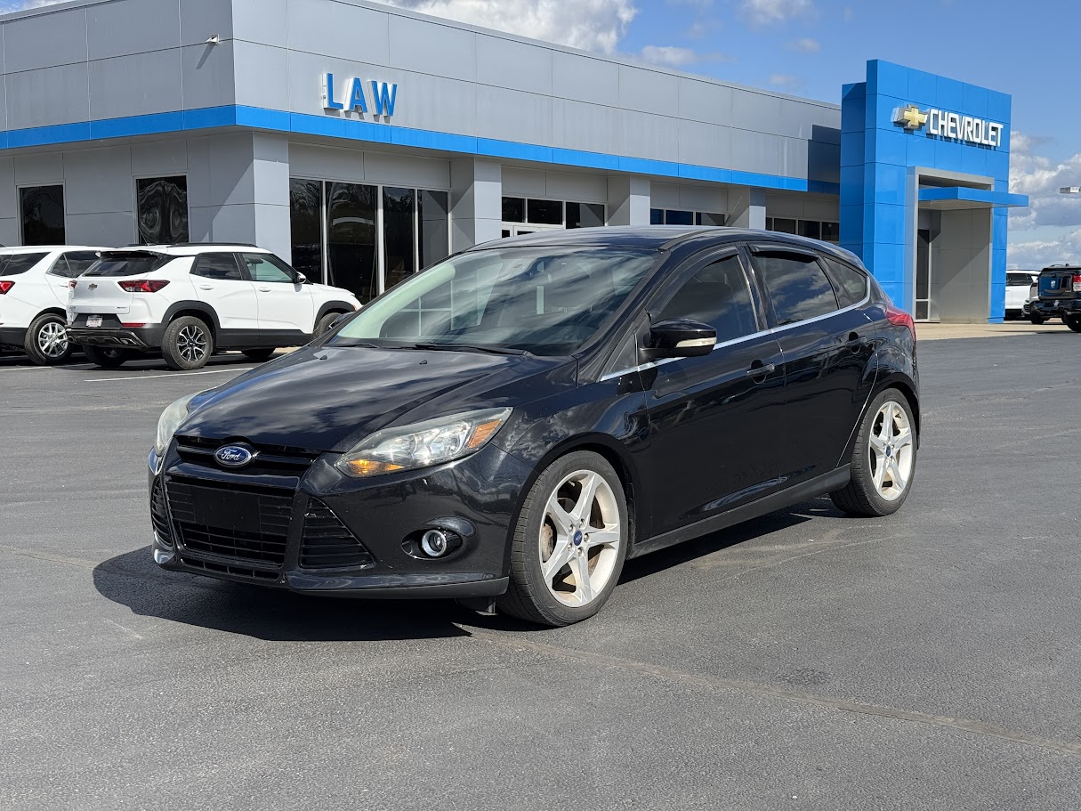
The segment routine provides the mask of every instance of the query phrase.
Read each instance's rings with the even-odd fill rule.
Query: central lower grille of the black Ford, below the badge
[[[280,571],[293,509],[281,488],[170,477],[169,507],[186,553],[204,561],[242,569]]]

